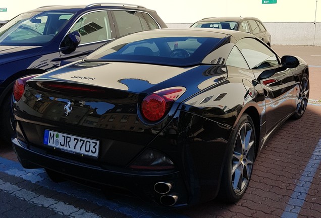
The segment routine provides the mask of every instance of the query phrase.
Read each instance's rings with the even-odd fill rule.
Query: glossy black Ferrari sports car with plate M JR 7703
[[[25,168],[183,206],[242,197],[267,137],[300,118],[308,66],[253,35],[207,28],[134,33],[14,86]]]

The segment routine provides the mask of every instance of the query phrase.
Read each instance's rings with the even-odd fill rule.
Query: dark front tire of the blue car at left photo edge
[[[0,137],[6,143],[11,143],[11,137],[15,134],[11,126],[11,95],[12,91],[9,91],[0,107]]]

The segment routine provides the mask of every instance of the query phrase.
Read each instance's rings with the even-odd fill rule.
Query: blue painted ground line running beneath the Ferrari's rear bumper
[[[42,169],[28,170],[24,169],[19,162],[8,160],[0,157],[0,172],[8,175],[23,178],[47,189],[64,193],[67,195],[76,196],[79,199],[96,203],[100,206],[105,206],[111,210],[121,212],[131,217],[139,218],[188,218],[188,216],[171,212],[166,209],[157,209],[147,207],[146,204],[135,198],[117,197],[117,199],[109,200],[101,192],[95,189],[90,189],[77,185],[71,182],[54,183],[46,175]]]

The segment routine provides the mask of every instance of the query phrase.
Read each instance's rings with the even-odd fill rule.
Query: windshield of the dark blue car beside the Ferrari
[[[0,28],[0,45],[41,45],[50,41],[72,13],[33,12],[18,15]]]

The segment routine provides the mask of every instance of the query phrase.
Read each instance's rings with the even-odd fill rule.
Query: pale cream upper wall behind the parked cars
[[[97,0],[1,0],[0,20],[44,5],[88,5]],[[105,2],[142,5],[157,11],[165,23],[194,23],[205,17],[252,16],[262,22],[314,22],[316,0],[278,0],[277,4],[262,4],[262,0],[108,0]],[[316,22],[321,22],[321,1]]]

